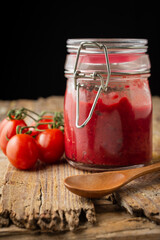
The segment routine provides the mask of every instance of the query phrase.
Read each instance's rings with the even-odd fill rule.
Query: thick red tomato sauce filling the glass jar
[[[130,85],[126,84],[124,89],[128,88]],[[88,117],[93,104],[89,95],[95,94],[94,90],[92,93],[81,90],[79,124]],[[101,94],[91,120],[82,129],[75,126],[76,102],[73,94],[66,91],[65,99],[67,159],[108,167],[146,164],[151,160],[152,106],[143,94],[133,99],[118,92]]]

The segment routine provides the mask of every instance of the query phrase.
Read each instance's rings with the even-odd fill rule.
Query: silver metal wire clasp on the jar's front
[[[81,51],[81,49],[85,49],[86,47],[90,47],[90,48],[97,48],[98,47],[98,48],[104,50],[105,60],[106,60],[106,68],[107,68],[106,69],[107,70],[107,79],[106,79],[106,83],[105,83],[101,72],[96,72],[95,71],[92,74],[90,74],[89,76],[87,75],[87,77],[89,77],[93,80],[100,79],[101,85],[100,85],[100,87],[98,89],[98,92],[95,96],[94,102],[92,104],[92,107],[91,107],[91,110],[89,112],[89,115],[88,115],[87,119],[81,125],[79,125],[79,88],[81,87],[81,84],[77,83],[77,79],[78,78],[85,78],[86,74],[77,70],[77,65],[78,65],[78,60],[79,60],[79,56],[80,56],[80,51]],[[91,119],[101,91],[102,90],[103,91],[107,90],[110,75],[111,75],[111,70],[110,70],[107,47],[104,44],[100,44],[100,43],[97,43],[97,42],[82,42],[80,44],[79,48],[78,48],[76,61],[75,61],[75,66],[74,66],[74,85],[75,85],[75,90],[77,91],[77,95],[76,95],[76,127],[77,128],[84,127],[89,122],[89,120]]]

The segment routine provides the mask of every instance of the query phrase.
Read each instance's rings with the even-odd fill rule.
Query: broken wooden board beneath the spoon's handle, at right
[[[130,214],[145,216],[160,224],[160,173],[148,174],[132,181],[114,196]]]

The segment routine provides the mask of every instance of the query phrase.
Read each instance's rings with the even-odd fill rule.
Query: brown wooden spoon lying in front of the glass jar
[[[64,180],[65,186],[79,196],[100,198],[110,194],[135,178],[160,170],[160,162],[129,170],[74,175]]]

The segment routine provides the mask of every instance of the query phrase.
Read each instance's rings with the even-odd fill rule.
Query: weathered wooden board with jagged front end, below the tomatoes
[[[93,203],[71,194],[64,186],[64,178],[72,174],[80,171],[63,163],[38,164],[30,171],[19,171],[9,164],[2,191],[1,226],[11,221],[29,229],[73,230],[82,214],[94,223]]]

